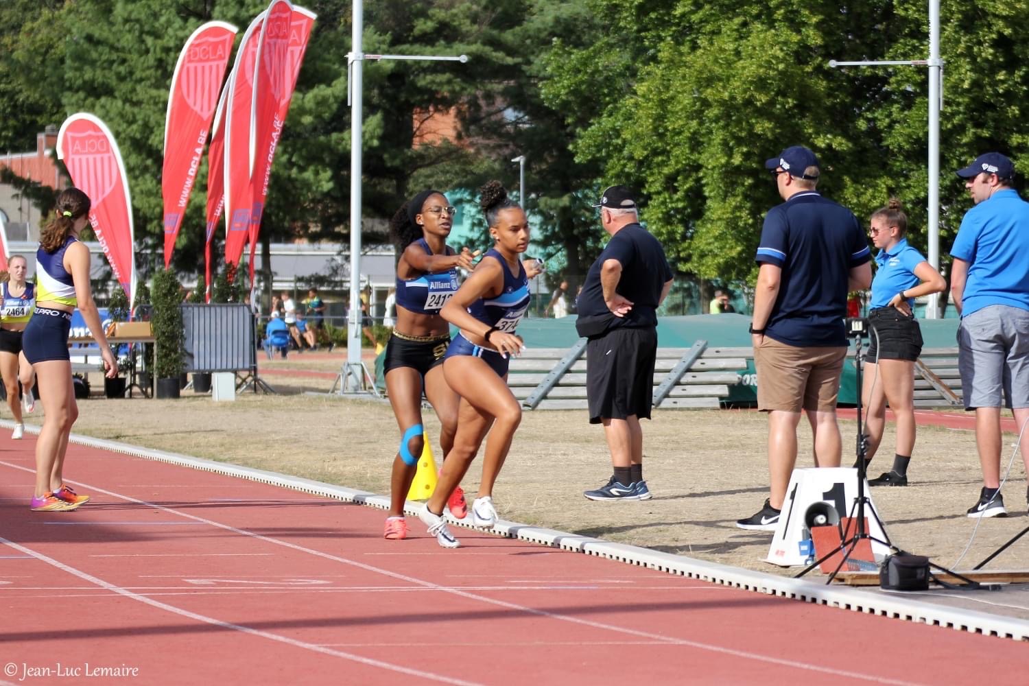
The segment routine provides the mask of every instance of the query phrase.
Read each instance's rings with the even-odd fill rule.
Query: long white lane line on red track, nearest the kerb
[[[19,469],[19,470],[28,471],[28,472],[32,472],[33,471],[33,470],[28,469],[26,467],[21,467],[19,465],[13,465],[13,464],[10,464],[10,463],[7,463],[7,462],[3,462],[3,461],[0,461],[0,466],[11,467],[13,469]],[[88,483],[83,483],[81,481],[70,481],[70,483],[72,483],[73,485],[78,485],[78,486],[80,486],[80,488],[82,488],[84,490],[95,491],[97,493],[102,493],[102,494],[105,494],[107,496],[111,496],[112,498],[119,498],[119,499],[125,500],[125,501],[130,502],[130,503],[137,503],[137,504],[140,504],[140,505],[144,505],[144,506],[146,506],[148,508],[154,508],[154,509],[163,510],[165,512],[169,512],[171,514],[176,514],[176,515],[184,517],[186,519],[192,519],[193,521],[206,522],[206,523],[209,523],[212,527],[217,528],[217,529],[222,529],[224,531],[229,531],[229,532],[233,532],[233,533],[236,533],[236,534],[240,534],[241,536],[248,536],[250,538],[254,538],[254,539],[257,539],[259,541],[264,541],[265,543],[271,543],[272,545],[279,545],[279,546],[282,546],[282,547],[285,547],[285,548],[289,548],[291,550],[296,550],[298,552],[306,552],[306,553],[314,555],[316,557],[321,557],[323,559],[329,559],[329,561],[332,561],[332,562],[338,562],[338,563],[341,563],[341,564],[344,564],[344,565],[348,565],[350,567],[356,567],[357,569],[361,569],[361,570],[364,570],[366,572],[371,572],[371,573],[375,573],[375,574],[381,574],[383,576],[387,576],[387,577],[390,577],[392,579],[397,579],[397,580],[400,580],[400,581],[405,581],[405,582],[407,582],[410,584],[418,584],[418,585],[426,586],[428,588],[435,588],[435,589],[440,590],[442,592],[452,593],[452,594],[458,595],[460,598],[465,598],[467,600],[472,600],[472,601],[478,601],[481,603],[486,603],[488,605],[493,605],[493,606],[496,606],[496,607],[506,608],[508,610],[514,610],[517,612],[524,612],[526,614],[532,614],[532,615],[536,615],[536,616],[540,616],[540,617],[546,617],[548,619],[555,619],[555,620],[559,620],[559,621],[566,621],[566,622],[569,622],[569,623],[572,623],[572,624],[579,624],[581,626],[590,626],[592,628],[597,628],[597,629],[601,629],[601,630],[615,631],[615,633],[618,633],[618,634],[627,634],[629,636],[636,636],[636,637],[639,637],[639,638],[642,638],[642,639],[651,639],[651,640],[657,640],[657,641],[665,641],[667,643],[671,643],[671,644],[674,644],[674,645],[688,646],[690,648],[696,648],[698,650],[706,650],[706,651],[709,651],[709,652],[719,653],[719,654],[722,654],[722,655],[732,655],[734,657],[741,657],[741,658],[744,658],[744,659],[752,659],[752,660],[756,660],[758,662],[767,662],[769,664],[777,664],[779,666],[787,666],[787,667],[792,667],[792,669],[796,669],[796,670],[804,670],[804,671],[807,671],[807,672],[816,672],[816,673],[819,673],[819,674],[829,674],[829,675],[833,675],[833,676],[847,677],[849,679],[858,679],[858,680],[861,680],[861,681],[871,681],[871,682],[880,683],[880,684],[895,684],[896,686],[913,686],[913,685],[917,684],[917,682],[899,681],[899,680],[894,680],[894,679],[888,679],[886,677],[874,677],[874,676],[861,674],[861,673],[858,673],[858,672],[848,672],[846,670],[837,670],[837,669],[833,669],[833,667],[822,666],[820,664],[812,664],[810,662],[801,662],[799,660],[783,659],[783,658],[779,658],[779,657],[774,657],[772,655],[762,655],[760,653],[754,653],[754,652],[750,652],[750,651],[746,651],[746,650],[737,650],[735,648],[726,648],[724,646],[716,646],[714,644],[702,643],[700,641],[690,641],[690,640],[687,640],[687,639],[676,639],[676,638],[673,638],[673,637],[663,636],[663,635],[660,635],[660,634],[651,634],[649,631],[641,631],[641,630],[638,630],[638,629],[627,628],[627,627],[624,627],[624,626],[615,626],[613,624],[605,624],[603,622],[593,621],[591,619],[582,619],[580,617],[572,617],[572,616],[569,616],[569,615],[557,614],[557,613],[553,613],[553,612],[547,612],[545,610],[537,610],[536,608],[530,608],[530,607],[526,607],[524,605],[517,605],[514,603],[507,603],[505,601],[500,601],[500,600],[488,598],[486,595],[476,595],[474,593],[469,593],[469,592],[462,591],[462,590],[446,589],[446,588],[443,588],[443,587],[439,586],[438,584],[435,584],[435,583],[433,583],[431,581],[425,581],[423,579],[418,579],[418,578],[415,578],[415,577],[406,576],[406,575],[400,574],[398,572],[392,572],[390,570],[385,570],[385,569],[381,569],[381,568],[378,568],[378,567],[372,567],[371,565],[365,565],[364,563],[359,563],[356,559],[348,559],[346,557],[341,557],[339,555],[333,555],[333,554],[330,554],[330,553],[327,553],[327,552],[323,552],[321,550],[315,550],[313,548],[306,548],[303,545],[298,545],[296,543],[290,543],[289,541],[283,541],[283,540],[280,540],[280,539],[277,539],[277,538],[272,538],[271,536],[264,536],[263,534],[256,534],[254,532],[245,531],[243,529],[237,529],[236,527],[232,527],[229,525],[224,525],[224,523],[221,523],[219,521],[213,521],[211,519],[205,519],[204,517],[198,516],[196,514],[189,514],[188,512],[180,512],[179,510],[175,510],[175,509],[172,509],[170,507],[165,507],[164,505],[156,505],[154,503],[148,503],[146,501],[138,500],[138,499],[133,498],[131,496],[123,496],[121,494],[113,493],[111,491],[107,491],[106,489],[101,489],[99,486],[91,485]],[[437,551],[436,554],[439,554],[440,552],[441,551]],[[443,553],[443,554],[446,554],[446,553]],[[462,553],[462,554],[467,554],[467,553]]]

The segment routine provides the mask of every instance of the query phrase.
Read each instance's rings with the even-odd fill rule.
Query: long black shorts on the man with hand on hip
[[[633,414],[650,419],[658,331],[616,328],[586,347],[586,390],[590,424],[624,420]]]

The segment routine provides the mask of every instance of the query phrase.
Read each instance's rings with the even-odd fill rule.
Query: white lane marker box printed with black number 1
[[[864,493],[868,495],[867,481]],[[857,470],[851,467],[827,467],[794,469],[786,486],[786,499],[782,504],[782,514],[772,546],[765,562],[780,567],[793,567],[814,562],[815,544],[811,531],[818,527],[831,526],[835,530],[851,514],[854,499],[857,498]],[[856,516],[856,513],[854,513]],[[867,533],[875,538],[886,540],[885,532],[879,525],[879,513],[872,498],[865,506]],[[824,531],[824,530],[823,530]],[[852,527],[846,532],[853,533]],[[840,542],[837,534],[836,543]],[[889,554],[889,548],[872,541],[872,552],[876,557]],[[862,544],[863,545],[863,544]]]

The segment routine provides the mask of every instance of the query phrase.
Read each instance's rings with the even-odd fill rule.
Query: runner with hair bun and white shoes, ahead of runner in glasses
[[[522,208],[507,198],[498,181],[483,186],[481,194],[480,206],[494,247],[440,312],[461,329],[443,362],[447,383],[461,396],[461,404],[454,448],[447,455],[435,492],[419,514],[429,534],[445,548],[456,548],[460,543],[442,517],[443,505],[487,433],[490,438],[471,519],[472,525],[487,529],[497,521],[493,485],[522,421],[522,407],[507,387],[507,365],[510,356],[521,354],[524,348],[514,329],[529,308],[529,277],[541,269],[527,273],[520,260],[529,247],[529,222]]]

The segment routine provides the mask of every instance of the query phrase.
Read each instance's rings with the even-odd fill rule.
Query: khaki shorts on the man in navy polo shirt
[[[754,349],[757,409],[836,409],[846,348],[796,348],[765,336]]]

